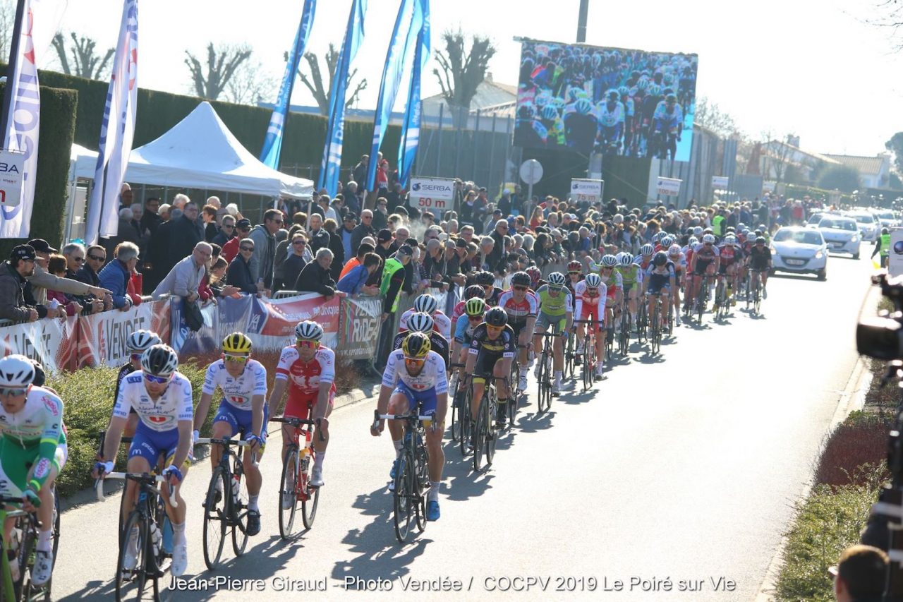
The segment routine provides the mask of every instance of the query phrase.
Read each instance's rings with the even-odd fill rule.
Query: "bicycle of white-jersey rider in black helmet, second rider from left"
[[[172,562],[163,550],[163,493],[156,485],[162,484],[166,477],[147,473],[107,473],[95,484],[98,501],[106,500],[104,481],[119,479],[134,481],[138,485],[138,502],[135,509],[128,513],[126,527],[119,533],[119,554],[116,560],[116,601],[144,596],[148,579],[152,582],[154,600],[160,599],[160,578],[170,568]],[[177,487],[170,490],[170,505],[178,506],[175,499]],[[124,493],[125,495],[125,493]],[[135,545],[132,538],[135,537]],[[137,552],[135,568],[126,568],[126,553],[129,549]]]

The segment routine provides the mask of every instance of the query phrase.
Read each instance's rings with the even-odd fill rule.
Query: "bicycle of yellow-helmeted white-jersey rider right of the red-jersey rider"
[[[436,419],[436,413],[430,412],[421,416],[414,407],[413,414],[380,414],[374,410],[374,426],[379,420],[402,420],[405,425],[405,437],[401,453],[396,458],[395,487],[392,491],[393,518],[395,521],[396,539],[399,543],[407,541],[411,531],[412,518],[417,531],[426,529],[426,491],[430,486],[429,456],[424,446],[424,420]]]

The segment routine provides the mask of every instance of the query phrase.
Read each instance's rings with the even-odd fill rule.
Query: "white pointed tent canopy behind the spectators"
[[[93,178],[97,157],[96,152],[73,145],[74,177]],[[273,197],[308,198],[313,192],[310,180],[258,161],[206,101],[163,136],[132,151],[126,182]]]

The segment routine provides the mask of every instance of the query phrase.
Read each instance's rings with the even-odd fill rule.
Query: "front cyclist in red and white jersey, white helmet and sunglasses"
[[[316,420],[318,434],[313,437],[313,448],[317,455],[311,485],[321,487],[323,458],[330,443],[329,417],[336,394],[336,357],[329,347],[321,343],[323,327],[316,322],[299,322],[294,327],[294,335],[295,344],[285,347],[279,355],[269,408],[275,414],[287,388],[284,417]],[[292,432],[293,427],[283,425],[283,460],[292,443]],[[293,503],[293,495],[284,495],[282,504],[285,509],[291,508]]]

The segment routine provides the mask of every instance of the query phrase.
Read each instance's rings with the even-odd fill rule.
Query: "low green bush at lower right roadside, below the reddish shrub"
[[[777,577],[777,599],[834,599],[828,567],[842,550],[859,542],[872,503],[878,499],[883,466],[862,466],[856,481],[865,486],[816,485],[796,504],[796,519],[787,532],[784,565]]]

